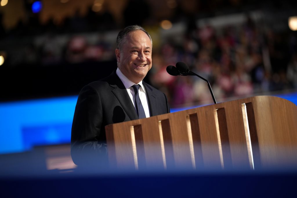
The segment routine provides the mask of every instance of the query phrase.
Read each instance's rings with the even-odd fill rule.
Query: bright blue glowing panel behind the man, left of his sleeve
[[[70,143],[78,96],[0,103],[0,155]]]

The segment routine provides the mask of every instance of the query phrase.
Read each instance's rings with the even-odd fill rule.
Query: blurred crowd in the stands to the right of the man
[[[216,98],[248,97],[297,88],[297,34],[274,32],[250,18],[220,31],[210,25],[188,28],[179,44],[167,40],[154,54],[151,82],[172,106],[212,103],[207,83],[196,76],[169,76],[167,65],[185,62],[208,79]]]

